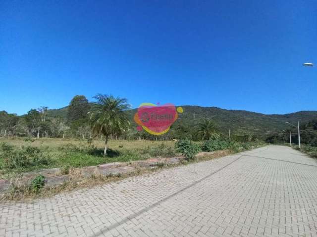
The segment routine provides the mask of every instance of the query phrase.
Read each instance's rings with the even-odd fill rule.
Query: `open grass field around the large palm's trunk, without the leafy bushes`
[[[30,156],[29,165],[24,167],[5,167],[4,159],[0,158],[1,176],[9,173],[19,173],[53,167],[84,167],[89,165],[98,165],[108,162],[129,162],[133,160],[147,159],[151,157],[172,157],[175,156],[173,141],[147,141],[147,140],[110,140],[108,142],[108,155],[103,157],[104,141],[79,139],[0,139],[0,144],[14,146],[14,150],[21,151],[21,157],[25,153],[28,156],[27,147],[36,147],[45,157],[45,162],[32,162]],[[0,152],[1,153],[1,152]],[[5,157],[4,157],[5,158]],[[40,157],[41,159],[41,157]]]

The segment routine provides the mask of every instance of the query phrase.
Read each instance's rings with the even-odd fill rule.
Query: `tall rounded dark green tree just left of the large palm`
[[[90,109],[88,100],[84,95],[76,95],[70,101],[67,111],[67,121],[71,123],[78,119],[87,118],[87,113]]]

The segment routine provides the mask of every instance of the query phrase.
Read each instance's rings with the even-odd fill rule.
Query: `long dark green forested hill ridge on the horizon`
[[[211,118],[219,130],[227,133],[230,129],[232,134],[257,134],[268,135],[283,129],[289,128],[285,121],[296,124],[300,119],[301,123],[317,119],[317,111],[300,111],[285,115],[264,115],[261,113],[243,111],[243,110],[225,110],[217,107],[201,107],[201,106],[181,106],[184,109],[183,114],[179,114],[179,118],[173,126],[193,127],[202,118]],[[137,109],[130,112],[132,120]],[[50,117],[59,116],[65,118],[67,116],[67,107],[61,109],[49,110]]]

